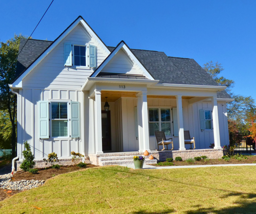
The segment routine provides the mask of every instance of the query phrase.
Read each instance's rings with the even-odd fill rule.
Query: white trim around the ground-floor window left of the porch
[[[67,139],[69,139],[69,140],[71,140],[72,138],[70,137],[70,114],[71,114],[71,112],[70,112],[70,102],[71,102],[71,100],[54,100],[54,99],[48,99],[48,102],[50,103],[49,104],[49,119],[50,119],[50,121],[49,121],[49,129],[50,129],[50,139],[53,139],[53,140],[67,140]],[[67,111],[68,111],[68,136],[67,137],[53,137],[52,136],[52,130],[51,130],[51,123],[52,123],[52,118],[51,118],[51,103],[53,103],[53,102],[58,102],[58,103],[60,103],[60,102],[66,102],[66,103],[68,103],[68,108],[67,108]],[[64,120],[64,119],[63,119]],[[66,119],[65,119],[66,120]]]

